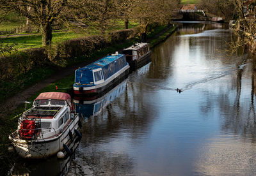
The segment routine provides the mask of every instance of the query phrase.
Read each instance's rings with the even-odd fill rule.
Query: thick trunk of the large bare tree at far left
[[[51,22],[46,22],[42,24],[42,45],[51,45],[52,42],[52,24]]]

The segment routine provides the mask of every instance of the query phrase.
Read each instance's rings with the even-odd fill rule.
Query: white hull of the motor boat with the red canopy
[[[69,149],[74,147],[74,141],[78,141],[80,136],[77,136],[75,129],[79,128],[79,117],[78,114],[76,118],[70,122],[67,128],[60,134],[52,138],[42,138],[38,140],[23,140],[17,137],[17,132],[9,136],[12,141],[15,150],[21,158],[29,159],[39,159],[39,158],[49,158],[50,156],[57,154],[59,151],[67,154],[63,145],[67,145]],[[72,137],[70,138],[70,131]]]

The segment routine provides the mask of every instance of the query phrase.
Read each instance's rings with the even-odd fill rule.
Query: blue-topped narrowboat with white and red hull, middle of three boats
[[[74,94],[95,96],[104,94],[118,85],[129,74],[124,54],[112,54],[76,70]]]

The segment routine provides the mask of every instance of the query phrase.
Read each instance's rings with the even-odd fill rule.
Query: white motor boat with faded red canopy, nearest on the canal
[[[41,93],[19,117],[18,128],[9,138],[22,158],[47,158],[72,153],[81,140],[79,115],[71,97],[63,92]]]

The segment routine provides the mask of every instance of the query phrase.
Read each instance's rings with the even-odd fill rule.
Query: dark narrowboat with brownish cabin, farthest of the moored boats
[[[150,62],[151,50],[148,43],[135,43],[131,47],[123,50],[126,61],[132,70],[136,70]]]

